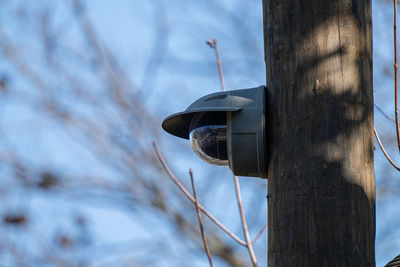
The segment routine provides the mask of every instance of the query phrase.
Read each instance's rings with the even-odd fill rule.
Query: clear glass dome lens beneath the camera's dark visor
[[[228,165],[226,125],[207,125],[193,129],[189,135],[196,154],[214,165]]]

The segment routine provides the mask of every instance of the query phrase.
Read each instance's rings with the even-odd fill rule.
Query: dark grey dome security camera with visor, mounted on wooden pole
[[[189,139],[195,153],[238,176],[266,178],[265,86],[213,93],[185,111],[168,116],[162,127]]]

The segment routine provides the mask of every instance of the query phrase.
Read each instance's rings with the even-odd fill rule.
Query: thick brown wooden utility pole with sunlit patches
[[[264,0],[268,266],[375,266],[370,0]]]

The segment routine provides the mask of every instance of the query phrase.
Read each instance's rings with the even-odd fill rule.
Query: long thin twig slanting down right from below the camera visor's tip
[[[167,163],[165,162],[164,158],[162,157],[160,151],[157,148],[156,142],[153,142],[153,147],[154,151],[156,152],[156,155],[158,157],[158,160],[160,161],[161,165],[164,167],[165,171],[168,173],[169,177],[171,177],[172,181],[178,186],[178,188],[185,194],[185,196],[192,201],[192,203],[195,203],[195,199],[192,196],[192,194],[189,193],[189,191],[185,188],[185,186],[179,181],[179,179],[175,176],[175,174],[170,170],[168,167]],[[218,219],[216,219],[206,208],[204,208],[200,203],[199,203],[199,209],[208,217],[212,222],[214,222],[222,231],[224,231],[226,234],[228,234],[233,240],[238,242],[242,246],[246,246],[246,242],[244,242],[242,239],[237,237],[234,233],[232,233],[228,228],[226,228]]]

